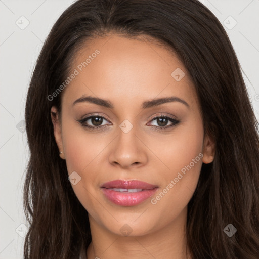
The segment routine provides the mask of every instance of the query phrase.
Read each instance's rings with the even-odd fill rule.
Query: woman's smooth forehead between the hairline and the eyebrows
[[[75,70],[77,75],[64,93],[65,102],[82,95],[114,102],[117,98],[124,103],[168,95],[197,101],[188,71],[177,54],[144,37],[95,38],[78,51],[71,65],[71,71]]]

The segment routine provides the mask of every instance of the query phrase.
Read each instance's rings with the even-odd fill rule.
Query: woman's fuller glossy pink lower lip
[[[158,187],[151,190],[143,190],[141,192],[116,192],[107,188],[102,188],[103,194],[113,203],[130,207],[135,206],[150,198],[157,191]]]

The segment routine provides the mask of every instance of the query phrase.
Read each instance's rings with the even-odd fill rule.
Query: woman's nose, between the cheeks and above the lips
[[[143,139],[135,131],[125,133],[119,129],[118,136],[114,139],[110,149],[109,162],[121,168],[143,166],[147,158],[148,148],[143,144]]]

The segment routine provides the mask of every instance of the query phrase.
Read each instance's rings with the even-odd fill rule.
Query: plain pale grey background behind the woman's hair
[[[25,98],[42,44],[54,22],[73,2],[0,0],[0,259],[23,258],[23,236],[27,229],[22,187],[28,161],[23,132]],[[259,118],[259,0],[201,2],[218,17],[227,31]]]

